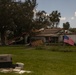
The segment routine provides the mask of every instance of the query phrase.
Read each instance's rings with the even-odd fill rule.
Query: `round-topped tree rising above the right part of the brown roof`
[[[50,22],[52,23],[52,27],[58,27],[58,24],[60,22],[60,17],[61,17],[61,14],[57,10],[53,11],[49,15],[49,19],[50,19]]]

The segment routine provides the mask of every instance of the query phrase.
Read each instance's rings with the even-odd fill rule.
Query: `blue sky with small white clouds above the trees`
[[[45,10],[47,14],[57,10],[61,13],[59,27],[69,22],[71,28],[76,28],[76,0],[37,0],[36,9]]]

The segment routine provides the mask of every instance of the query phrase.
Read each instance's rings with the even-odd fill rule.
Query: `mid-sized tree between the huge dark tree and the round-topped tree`
[[[36,18],[34,20],[34,27],[36,29],[40,29],[40,28],[46,28],[48,25],[49,21],[46,12],[44,10],[38,11],[36,13]]]

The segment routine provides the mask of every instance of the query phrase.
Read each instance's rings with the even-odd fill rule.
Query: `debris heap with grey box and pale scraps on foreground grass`
[[[23,67],[24,67],[24,63],[21,62],[12,64],[11,54],[0,55],[0,72],[2,73],[15,72],[18,74],[31,73],[31,71],[23,70]]]

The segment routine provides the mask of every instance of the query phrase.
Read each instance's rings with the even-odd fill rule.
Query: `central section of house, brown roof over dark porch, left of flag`
[[[61,28],[48,28],[44,29],[36,36],[32,37],[33,39],[41,39],[45,43],[57,43],[59,42],[59,32]]]

